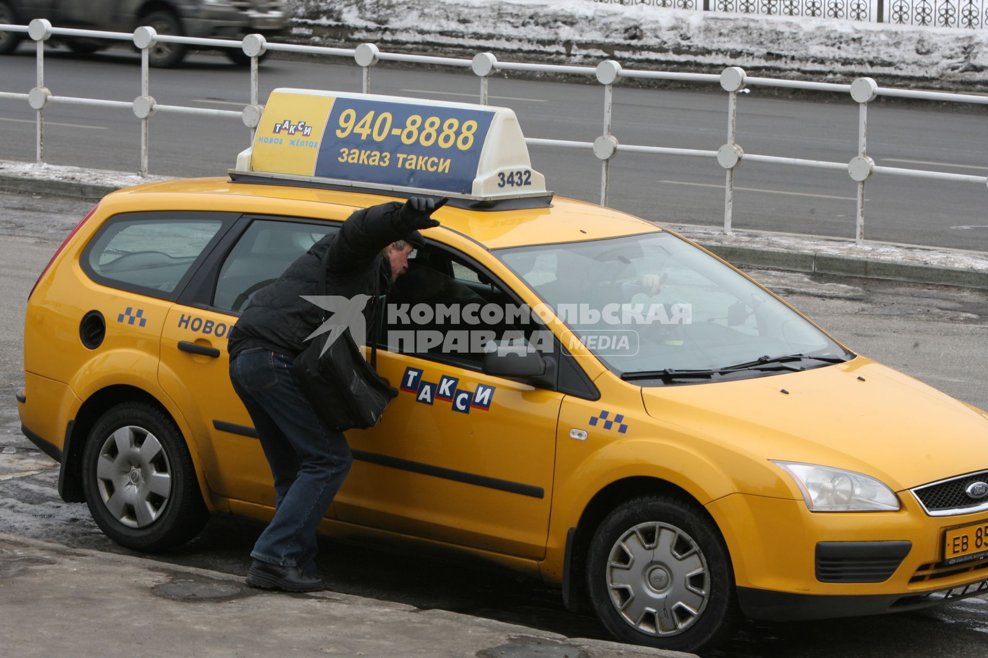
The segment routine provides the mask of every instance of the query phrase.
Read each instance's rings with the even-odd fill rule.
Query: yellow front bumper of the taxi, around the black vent
[[[706,508],[753,619],[875,615],[988,593],[988,557],[944,562],[947,529],[988,515],[931,517],[900,500],[897,512],[813,513],[802,500],[736,493]]]

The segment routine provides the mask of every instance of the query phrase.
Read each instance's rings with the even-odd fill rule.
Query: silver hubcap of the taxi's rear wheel
[[[96,465],[103,504],[130,528],[149,526],[165,511],[172,493],[171,473],[161,444],[136,425],[111,434]]]

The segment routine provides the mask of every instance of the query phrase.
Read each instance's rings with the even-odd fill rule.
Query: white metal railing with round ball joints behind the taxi
[[[593,142],[569,141],[560,139],[527,138],[526,142],[533,146],[550,146],[566,149],[581,149],[593,152],[601,161],[601,205],[608,203],[608,183],[610,181],[610,163],[618,153],[644,153],[651,155],[674,155],[692,158],[712,158],[725,170],[724,182],[724,222],[723,232],[732,231],[731,219],[734,206],[734,170],[742,161],[761,162],[788,167],[805,167],[810,169],[847,172],[853,181],[858,183],[858,211],[855,222],[855,240],[864,243],[864,183],[873,175],[927,179],[931,181],[948,181],[955,183],[976,183],[988,185],[988,177],[966,176],[945,172],[926,170],[900,169],[896,167],[879,167],[867,156],[867,106],[878,96],[895,98],[924,99],[929,101],[950,103],[972,103],[988,105],[988,96],[973,96],[965,94],[950,94],[944,92],[921,92],[908,89],[879,87],[871,78],[858,78],[850,85],[809,82],[801,80],[781,80],[775,78],[748,77],[744,70],[732,66],[720,75],[707,73],[675,73],[669,71],[642,71],[623,68],[617,61],[606,60],[593,66],[564,66],[557,64],[533,64],[524,62],[502,62],[489,52],[481,52],[472,59],[454,57],[433,57],[428,55],[409,55],[393,52],[381,52],[372,43],[362,43],[354,49],[331,48],[314,45],[299,45],[292,43],[269,43],[261,35],[248,35],[242,40],[172,37],[157,35],[152,28],[137,28],[132,35],[113,32],[93,32],[87,30],[69,30],[53,28],[44,19],[36,19],[28,27],[0,25],[0,31],[27,32],[37,42],[38,54],[38,84],[28,94],[0,92],[0,99],[27,100],[38,112],[37,131],[37,161],[44,162],[44,109],[49,104],[87,105],[105,108],[128,108],[141,121],[140,132],[140,168],[141,177],[147,176],[148,162],[148,123],[155,112],[174,112],[183,114],[198,114],[202,116],[219,116],[239,118],[251,130],[253,143],[257,126],[261,120],[263,106],[258,104],[258,57],[267,50],[284,52],[304,52],[324,54],[337,57],[352,58],[363,69],[363,91],[371,91],[371,68],[378,61],[401,61],[410,63],[425,63],[441,66],[453,66],[470,69],[480,80],[478,101],[487,105],[488,78],[498,71],[533,71],[542,73],[557,73],[596,78],[604,91],[603,133]],[[123,101],[104,101],[65,96],[54,96],[44,87],[44,41],[52,36],[60,37],[97,37],[116,40],[132,40],[141,53],[141,95],[132,103]],[[148,89],[148,49],[155,42],[185,43],[207,47],[237,47],[251,58],[250,67],[250,104],[241,111],[235,110],[206,110],[202,108],[187,108],[183,106],[168,106],[158,104]],[[676,80],[705,84],[719,84],[727,93],[727,141],[716,151],[698,149],[670,148],[638,144],[621,144],[613,134],[612,109],[614,107],[615,85],[621,78],[648,80]],[[858,153],[849,162],[828,162],[822,160],[805,160],[785,158],[780,156],[757,155],[745,153],[737,143],[735,126],[737,123],[738,92],[748,86],[779,87],[807,91],[823,91],[840,94],[850,94],[859,104],[858,120]]]

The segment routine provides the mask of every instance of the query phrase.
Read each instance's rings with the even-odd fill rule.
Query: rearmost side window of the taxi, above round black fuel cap
[[[132,213],[107,221],[82,267],[104,285],[175,299],[234,213]]]

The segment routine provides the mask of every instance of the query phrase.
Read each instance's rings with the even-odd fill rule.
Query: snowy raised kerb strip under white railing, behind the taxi
[[[134,174],[0,160],[0,187],[46,194],[101,198],[139,183]],[[725,236],[712,226],[666,224],[738,266],[771,267],[811,274],[836,274],[911,283],[988,289],[988,253],[867,242],[769,231],[736,230]]]

